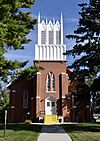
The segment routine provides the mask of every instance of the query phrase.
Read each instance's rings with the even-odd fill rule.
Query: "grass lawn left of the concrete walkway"
[[[4,126],[0,125],[0,141],[37,141],[42,126],[9,124],[4,139]]]

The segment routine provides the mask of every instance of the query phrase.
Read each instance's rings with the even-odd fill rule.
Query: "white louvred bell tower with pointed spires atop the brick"
[[[35,61],[66,61],[63,53],[63,18],[60,21],[40,19],[38,14],[38,44],[35,45]]]

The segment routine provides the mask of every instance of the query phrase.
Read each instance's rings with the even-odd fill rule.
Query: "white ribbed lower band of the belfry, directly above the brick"
[[[64,50],[66,50],[66,45],[36,44],[35,60],[66,61],[66,55],[63,55]],[[47,58],[45,57],[44,52],[47,54]]]

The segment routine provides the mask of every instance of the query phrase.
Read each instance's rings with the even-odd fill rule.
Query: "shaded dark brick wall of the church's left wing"
[[[31,109],[31,97],[33,95],[33,81],[19,80],[10,86],[10,109],[9,109],[9,121],[20,122],[24,121],[27,112]],[[28,90],[29,93],[29,105],[28,109],[23,108],[23,92]]]

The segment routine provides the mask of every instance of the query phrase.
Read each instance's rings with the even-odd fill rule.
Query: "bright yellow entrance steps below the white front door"
[[[57,115],[46,115],[44,117],[44,123],[47,123],[47,124],[59,123],[58,116]]]

